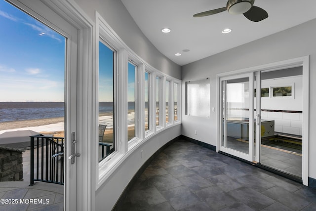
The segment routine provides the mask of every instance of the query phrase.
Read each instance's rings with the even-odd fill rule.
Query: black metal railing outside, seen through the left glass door
[[[64,184],[64,138],[35,135],[31,137],[31,182]]]

